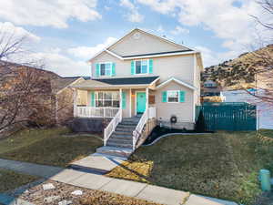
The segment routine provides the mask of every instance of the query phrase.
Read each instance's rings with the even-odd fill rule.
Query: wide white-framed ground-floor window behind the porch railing
[[[109,91],[96,92],[96,108],[119,108],[119,93]]]

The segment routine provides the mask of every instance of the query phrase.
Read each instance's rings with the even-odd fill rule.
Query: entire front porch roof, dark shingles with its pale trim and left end
[[[105,79],[85,80],[72,87],[77,88],[128,88],[128,87],[147,87],[153,85],[159,77],[116,77]]]

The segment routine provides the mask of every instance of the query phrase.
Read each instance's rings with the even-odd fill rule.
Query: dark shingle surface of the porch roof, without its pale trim
[[[121,78],[107,78],[107,79],[93,79],[102,83],[110,85],[139,85],[150,84],[157,77],[121,77]]]

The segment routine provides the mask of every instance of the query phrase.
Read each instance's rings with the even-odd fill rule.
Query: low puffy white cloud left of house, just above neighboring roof
[[[35,61],[45,63],[45,69],[55,72],[62,77],[90,76],[90,67],[85,61],[73,60],[61,53],[56,47],[46,52],[39,52],[29,57]]]

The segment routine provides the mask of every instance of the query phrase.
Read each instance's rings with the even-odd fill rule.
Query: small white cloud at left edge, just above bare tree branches
[[[40,41],[41,39],[39,36],[35,36],[34,34],[25,30],[23,27],[14,26],[10,22],[0,22],[0,36],[14,36],[14,38],[25,37],[26,40],[34,42]]]

